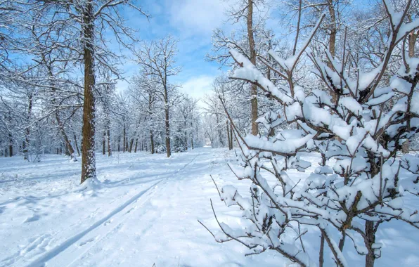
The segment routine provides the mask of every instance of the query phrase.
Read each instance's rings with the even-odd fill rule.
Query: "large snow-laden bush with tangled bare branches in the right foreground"
[[[266,128],[264,133],[276,130],[273,136],[243,137],[230,118],[241,167],[232,169],[252,185],[250,197],[243,197],[232,185],[219,189],[221,200],[243,213],[238,227],[216,216],[221,230],[212,234],[218,242],[236,240],[250,254],[272,249],[300,266],[315,266],[304,249],[307,230],[301,230],[315,226],[322,235],[320,265],[327,244],[337,266],[348,266],[342,252],[351,242],[359,255],[366,256],[366,266],[373,266],[381,255],[382,245],[375,242],[380,223],[399,220],[419,228],[418,211],[404,204],[406,195],[419,194],[419,157],[397,153],[419,125],[419,58],[408,56],[404,46],[408,34],[418,29],[419,19],[408,21],[408,3],[396,13],[384,1],[387,49],[381,64],[365,73],[350,67],[355,58],[349,48],[335,58],[307,49],[324,15],[295,56],[284,60],[269,51],[275,65],[259,58],[283,84],[273,84],[248,58],[231,51],[238,65],[231,78],[257,84],[277,101],[278,111],[258,119],[259,126]],[[402,56],[394,57],[398,49]],[[313,86],[322,89],[303,90],[301,81],[295,82],[292,74],[303,53],[316,67],[320,86]],[[394,61],[399,71],[385,79]],[[298,129],[276,128],[284,121]],[[296,181],[289,171],[310,166],[304,160],[307,152],[319,152],[321,166],[307,174],[305,181]],[[360,239],[363,244],[356,242]]]

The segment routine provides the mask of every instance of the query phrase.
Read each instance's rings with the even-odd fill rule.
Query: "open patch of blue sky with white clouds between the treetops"
[[[147,20],[138,12],[125,11],[127,24],[138,30],[143,40],[157,39],[172,34],[179,39],[177,63],[182,72],[171,82],[182,84],[181,91],[194,98],[200,98],[211,89],[211,84],[221,73],[217,63],[205,60],[205,54],[212,48],[212,30],[223,27],[225,1],[222,0],[146,0],[138,1],[144,11],[150,13]],[[138,65],[127,62],[123,70],[125,77],[138,71]],[[128,86],[118,82],[117,90]]]

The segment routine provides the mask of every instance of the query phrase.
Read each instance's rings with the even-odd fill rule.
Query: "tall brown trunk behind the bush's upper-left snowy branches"
[[[250,48],[250,62],[256,65],[256,50],[254,48],[254,37],[253,37],[253,0],[247,0],[247,38],[249,39]],[[257,86],[252,84],[250,90],[252,105],[252,135],[257,136]]]

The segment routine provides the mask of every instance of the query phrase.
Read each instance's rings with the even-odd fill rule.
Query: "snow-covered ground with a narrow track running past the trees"
[[[203,228],[235,223],[234,209],[219,201],[219,185],[237,181],[224,149],[198,148],[165,155],[97,155],[94,190],[79,186],[80,162],[47,155],[39,163],[0,159],[0,266],[287,266],[274,252],[245,257],[236,242],[219,244]],[[317,158],[311,158],[316,167]],[[409,203],[419,207],[417,200]],[[318,235],[308,237],[316,259]],[[376,266],[419,266],[419,233],[404,223],[384,224]],[[348,247],[349,247],[348,241]],[[353,266],[363,263],[351,249]],[[327,266],[333,266],[326,255]]]

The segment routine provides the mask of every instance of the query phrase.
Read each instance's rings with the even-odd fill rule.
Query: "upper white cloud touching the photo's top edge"
[[[171,25],[183,34],[211,34],[223,23],[221,0],[169,0],[168,6]]]

